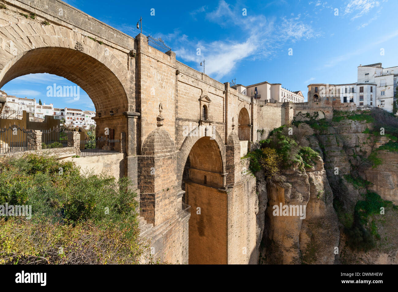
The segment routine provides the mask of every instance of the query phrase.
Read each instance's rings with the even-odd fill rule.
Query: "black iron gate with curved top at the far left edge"
[[[20,126],[10,125],[8,128],[0,129],[0,154],[27,151],[32,138],[32,130]]]

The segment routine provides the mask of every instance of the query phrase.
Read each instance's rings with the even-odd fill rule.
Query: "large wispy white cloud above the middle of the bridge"
[[[202,8],[195,10],[195,14],[205,9]],[[236,64],[244,59],[270,58],[287,42],[295,43],[320,35],[310,24],[302,21],[300,14],[279,19],[253,13],[244,16],[242,8],[233,7],[224,0],[220,0],[215,10],[206,13],[206,19],[220,27],[233,30],[234,34],[226,40],[206,42],[190,40],[187,35],[175,30],[162,39],[174,41],[175,47],[178,48],[175,50],[177,57],[184,61],[196,62],[199,65],[203,59],[207,60],[205,73],[216,79],[221,79],[231,72]],[[197,55],[197,48],[201,49],[200,56]],[[201,70],[200,66],[195,69]]]

